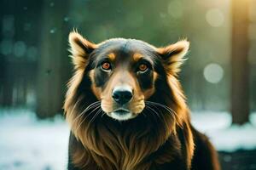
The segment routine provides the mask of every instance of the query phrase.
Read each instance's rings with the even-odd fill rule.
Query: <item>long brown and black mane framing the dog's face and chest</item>
[[[100,110],[98,99],[91,89],[90,70],[86,67],[90,61],[86,54],[81,54],[84,53],[82,46],[96,48],[96,45],[84,42],[85,39],[75,35],[71,35],[70,39],[75,73],[68,83],[64,105],[72,131],[69,151],[73,166],[69,169],[148,170],[193,167],[196,132],[190,125],[189,109],[176,77],[182,59],[176,56],[173,59],[177,62],[170,61],[174,63],[172,67],[163,66],[163,75],[158,76],[155,93],[146,102],[142,114],[128,122],[117,122]],[[73,44],[74,41],[83,43],[77,46]],[[166,51],[172,54],[173,48],[159,48],[159,53]],[[218,166],[212,169],[217,170]]]

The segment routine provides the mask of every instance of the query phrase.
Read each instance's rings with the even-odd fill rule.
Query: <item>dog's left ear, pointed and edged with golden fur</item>
[[[82,37],[77,31],[69,33],[69,45],[71,57],[73,58],[73,65],[75,69],[83,69],[88,64],[90,53],[97,48],[93,42],[89,42]]]

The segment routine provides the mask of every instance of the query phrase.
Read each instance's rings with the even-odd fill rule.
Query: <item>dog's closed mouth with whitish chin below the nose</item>
[[[136,115],[133,114],[131,111],[121,107],[110,112],[108,116],[111,116],[113,119],[116,119],[119,121],[126,121],[131,118],[134,118]]]

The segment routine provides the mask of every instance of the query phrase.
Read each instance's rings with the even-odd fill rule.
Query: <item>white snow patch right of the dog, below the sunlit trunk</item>
[[[250,122],[231,126],[231,115],[226,112],[192,113],[192,124],[205,133],[217,150],[255,150],[256,114],[250,116]]]

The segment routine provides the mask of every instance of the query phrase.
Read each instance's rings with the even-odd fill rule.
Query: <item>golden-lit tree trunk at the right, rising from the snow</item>
[[[249,116],[249,65],[248,55],[248,3],[249,0],[232,1],[232,122],[243,124]]]

